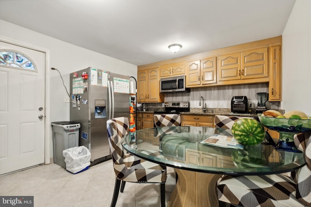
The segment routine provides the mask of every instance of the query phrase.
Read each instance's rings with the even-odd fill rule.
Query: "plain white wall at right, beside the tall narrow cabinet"
[[[311,115],[311,0],[296,0],[282,41],[282,108]]]

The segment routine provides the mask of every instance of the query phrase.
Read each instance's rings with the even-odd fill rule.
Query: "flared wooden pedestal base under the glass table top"
[[[217,180],[220,174],[176,169],[178,180],[168,207],[218,207]]]

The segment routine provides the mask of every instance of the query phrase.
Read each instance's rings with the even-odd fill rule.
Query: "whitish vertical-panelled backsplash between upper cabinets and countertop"
[[[247,96],[252,108],[257,107],[257,93],[268,93],[268,83],[191,88],[190,93],[165,94],[165,101],[189,101],[190,108],[200,108],[200,97],[206,108],[231,108],[233,96]],[[280,102],[266,102],[268,109],[279,109]]]

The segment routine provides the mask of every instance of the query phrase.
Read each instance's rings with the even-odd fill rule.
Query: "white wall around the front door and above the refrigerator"
[[[0,39],[9,40],[21,43],[23,46],[31,46],[32,48],[42,48],[48,51],[48,65],[46,71],[46,81],[49,89],[46,95],[50,96],[50,101],[47,104],[46,114],[49,123],[55,121],[69,120],[69,103],[65,103],[65,97],[68,96],[63,86],[63,82],[56,70],[51,70],[54,67],[60,71],[64,79],[65,85],[69,92],[69,74],[86,67],[95,67],[115,73],[120,73],[128,76],[137,77],[137,66],[129,64],[106,55],[99,54],[80,48],[69,43],[54,39],[52,37],[34,32],[17,25],[8,23],[0,19]],[[61,31],[59,31],[61,32]],[[48,97],[49,100],[49,97]],[[52,128],[50,131],[50,139],[47,141],[50,144],[50,158],[53,154],[52,143]],[[46,156],[48,156],[46,154]]]

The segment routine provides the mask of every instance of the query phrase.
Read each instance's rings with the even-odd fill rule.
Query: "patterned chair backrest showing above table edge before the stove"
[[[180,114],[155,114],[154,121],[156,127],[174,127],[180,126]]]

